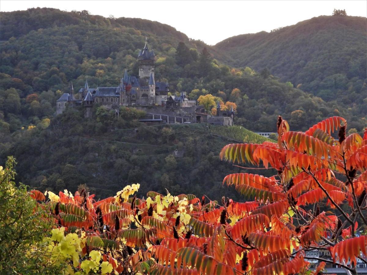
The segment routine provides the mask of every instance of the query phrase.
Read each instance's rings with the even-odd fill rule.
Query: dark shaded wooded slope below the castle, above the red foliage
[[[45,129],[17,131],[0,157],[14,155],[17,179],[42,191],[75,191],[87,184],[87,190],[108,197],[138,182],[141,196],[167,188],[218,200],[224,194],[238,197],[221,184],[229,170],[240,170],[218,158],[229,142],[224,132],[213,135],[206,124],[146,126],[137,120],[143,113],[126,107],[116,121],[113,112],[101,109],[95,108],[87,120],[83,110],[69,109]]]

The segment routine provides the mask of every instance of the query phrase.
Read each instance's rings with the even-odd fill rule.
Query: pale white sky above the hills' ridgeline
[[[214,45],[244,33],[269,32],[319,15],[331,15],[334,8],[348,15],[367,17],[366,0],[298,1],[111,1],[111,0],[0,0],[1,11],[51,7],[60,10],[88,10],[104,17],[143,18],[175,27],[188,37]]]

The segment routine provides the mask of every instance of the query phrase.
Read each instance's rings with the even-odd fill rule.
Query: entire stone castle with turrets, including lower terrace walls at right
[[[145,38],[145,46],[137,56],[139,77],[129,76],[125,69],[124,76],[116,87],[89,88],[88,81],[84,88],[79,89],[78,99],[74,98],[73,84],[70,83],[69,93],[63,94],[56,101],[56,114],[61,114],[66,107],[82,106],[85,116],[90,117],[94,105],[106,106],[119,112],[119,106],[134,106],[146,111],[145,122],[184,123],[207,122],[210,124],[233,125],[231,109],[228,113],[217,106],[217,115],[207,114],[203,106],[197,106],[195,100],[189,100],[185,92],[179,96],[169,95],[168,82],[155,81],[155,53],[149,51]],[[219,104],[219,103],[218,103]],[[153,107],[153,108],[152,108]],[[157,118],[159,117],[159,118]]]

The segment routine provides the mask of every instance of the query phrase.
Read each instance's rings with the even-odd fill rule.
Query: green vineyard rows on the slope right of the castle
[[[274,142],[274,140],[268,139],[258,135],[257,133],[251,132],[250,130],[242,126],[222,126],[222,125],[211,125],[209,131],[213,134],[228,137],[230,139],[237,140],[245,143],[263,143],[264,141]]]

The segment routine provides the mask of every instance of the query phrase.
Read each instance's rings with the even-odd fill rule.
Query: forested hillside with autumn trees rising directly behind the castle
[[[352,105],[352,99],[326,102],[266,71],[229,67],[233,61],[220,49],[158,22],[33,8],[2,12],[0,33],[3,143],[11,140],[12,132],[52,118],[55,101],[69,92],[70,81],[77,96],[86,78],[89,87],[111,87],[118,85],[125,68],[137,76],[145,36],[156,54],[156,81],[167,80],[172,94],[185,91],[193,100],[212,94],[217,101],[236,103],[235,124],[251,131],[276,131],[277,115],[289,120],[293,130],[306,130],[333,115],[345,117],[348,128],[366,127],[367,100],[357,94],[366,87],[360,80],[351,91],[342,88],[347,95],[355,92],[357,104]]]

